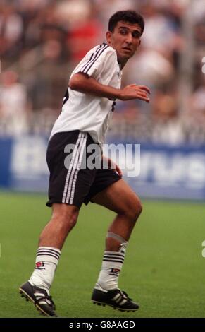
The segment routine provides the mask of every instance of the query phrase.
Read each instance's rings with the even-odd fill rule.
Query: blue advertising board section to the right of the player
[[[140,147],[139,177],[126,180],[139,196],[205,198],[205,148]]]

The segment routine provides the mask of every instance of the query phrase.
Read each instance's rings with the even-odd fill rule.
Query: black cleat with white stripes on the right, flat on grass
[[[113,307],[113,309],[118,309],[121,312],[135,312],[139,309],[139,305],[132,302],[132,299],[128,297],[128,294],[118,288],[116,290],[108,291],[94,288],[91,300],[94,304],[103,306],[107,304]]]

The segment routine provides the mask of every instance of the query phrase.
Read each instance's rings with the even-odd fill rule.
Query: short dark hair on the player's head
[[[136,11],[117,11],[114,13],[109,19],[108,30],[113,32],[120,20],[131,24],[137,23],[142,29],[142,32],[144,31],[144,18]]]

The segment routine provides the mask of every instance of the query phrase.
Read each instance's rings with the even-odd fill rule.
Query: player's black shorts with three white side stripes
[[[68,148],[65,153],[65,147],[70,144],[73,144],[73,153],[68,153]],[[90,169],[87,165],[81,167],[82,161],[92,155],[87,152],[89,144],[94,144],[94,141],[85,131],[61,132],[51,138],[46,155],[50,171],[46,206],[66,203],[80,208],[82,203],[89,203],[93,196],[121,178],[115,171],[102,168],[102,165],[99,169]],[[101,160],[101,155],[99,158]]]

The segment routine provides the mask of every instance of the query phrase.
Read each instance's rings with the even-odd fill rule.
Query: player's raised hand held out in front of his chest
[[[140,99],[149,102],[149,88],[145,85],[130,84],[121,89],[120,100]]]

